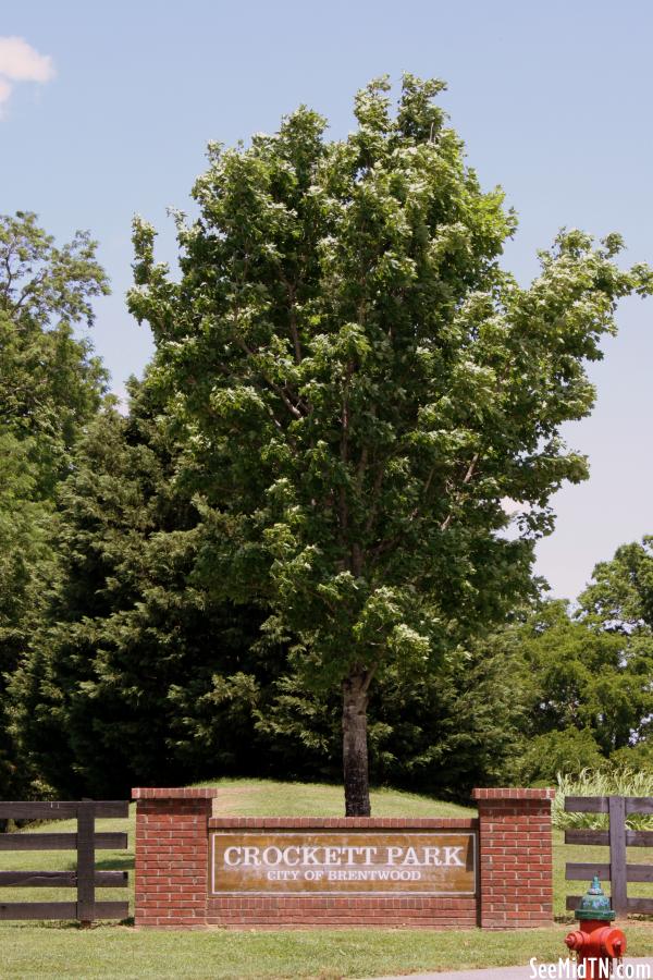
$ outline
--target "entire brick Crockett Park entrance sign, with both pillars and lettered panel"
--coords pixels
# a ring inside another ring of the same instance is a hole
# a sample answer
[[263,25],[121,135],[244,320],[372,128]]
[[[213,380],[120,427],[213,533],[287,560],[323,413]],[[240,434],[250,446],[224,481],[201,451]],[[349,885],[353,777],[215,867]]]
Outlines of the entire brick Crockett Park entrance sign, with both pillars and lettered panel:
[[539,926],[550,789],[477,789],[478,819],[213,818],[218,788],[134,789],[136,924]]

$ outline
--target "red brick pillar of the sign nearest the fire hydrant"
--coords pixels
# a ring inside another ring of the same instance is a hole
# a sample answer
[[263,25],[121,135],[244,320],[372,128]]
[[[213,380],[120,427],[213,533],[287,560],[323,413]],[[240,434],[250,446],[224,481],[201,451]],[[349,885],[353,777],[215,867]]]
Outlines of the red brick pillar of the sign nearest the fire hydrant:
[[475,789],[472,796],[479,808],[480,924],[550,926],[555,789]]

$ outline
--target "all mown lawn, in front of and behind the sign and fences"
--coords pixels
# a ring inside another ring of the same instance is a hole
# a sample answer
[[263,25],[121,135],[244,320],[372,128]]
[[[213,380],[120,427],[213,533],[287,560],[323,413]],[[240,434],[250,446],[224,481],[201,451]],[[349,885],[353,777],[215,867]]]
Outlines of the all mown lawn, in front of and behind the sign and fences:
[[[224,780],[215,800],[218,816],[262,817],[283,814],[341,816],[342,789],[326,785]],[[133,810],[133,808],[132,808]],[[394,791],[372,795],[379,817],[469,816],[475,809]],[[44,830],[37,828],[34,832]],[[74,821],[57,821],[48,830],[74,831]],[[128,820],[99,820],[98,830],[127,830],[130,852],[98,852],[102,869],[131,869],[134,863],[134,813]],[[26,831],[29,833],[30,831]],[[629,860],[643,862],[649,852],[633,848]],[[368,978],[384,973],[508,966],[556,960],[566,952],[565,895],[584,891],[582,882],[565,882],[565,861],[603,861],[607,848],[565,847],[563,834],[554,835],[555,915],[553,929],[528,932],[459,930],[415,932],[403,930],[296,930],[207,932],[139,932],[130,926],[102,923],[81,930],[71,923],[0,923],[0,978]],[[75,867],[69,852],[4,852],[2,869],[66,870]],[[132,882],[133,885],[133,882]],[[630,885],[629,894],[646,894],[646,885]],[[650,892],[649,892],[650,893]],[[120,899],[118,889],[98,890],[98,897]],[[3,902],[28,899],[74,901],[63,889],[2,889]],[[653,956],[653,928],[648,922],[628,927],[629,954]]]

